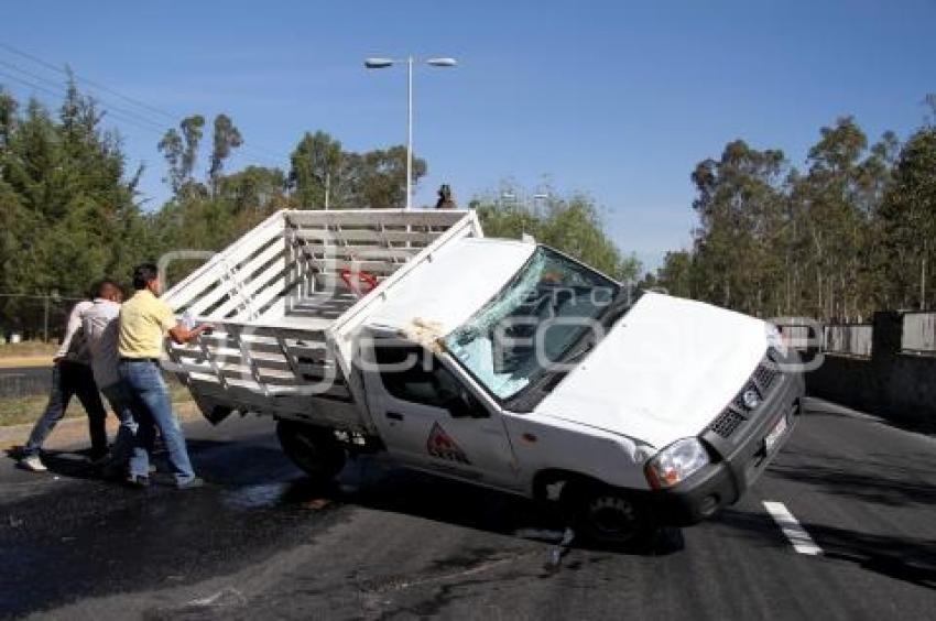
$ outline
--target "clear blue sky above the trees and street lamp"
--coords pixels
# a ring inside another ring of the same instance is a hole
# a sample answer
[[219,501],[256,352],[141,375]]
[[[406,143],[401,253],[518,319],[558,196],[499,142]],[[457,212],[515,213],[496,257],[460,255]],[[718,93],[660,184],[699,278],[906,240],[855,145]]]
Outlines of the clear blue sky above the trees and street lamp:
[[[248,163],[286,166],[306,130],[347,149],[405,141],[405,72],[366,56],[454,56],[415,76],[416,204],[442,183],[464,205],[501,181],[548,179],[602,207],[647,266],[687,247],[689,173],[726,142],[780,148],[801,165],[818,130],[853,115],[873,139],[905,137],[936,91],[936,2],[48,2],[8,3],[0,43],[182,118],[231,116]],[[2,64],[7,63],[7,64]],[[50,94],[10,67],[62,76],[0,48],[0,84]],[[91,89],[92,91],[95,89]],[[167,196],[155,144],[172,121],[112,116],[142,188]],[[207,141],[206,141],[207,142]],[[207,167],[203,157],[200,167]]]

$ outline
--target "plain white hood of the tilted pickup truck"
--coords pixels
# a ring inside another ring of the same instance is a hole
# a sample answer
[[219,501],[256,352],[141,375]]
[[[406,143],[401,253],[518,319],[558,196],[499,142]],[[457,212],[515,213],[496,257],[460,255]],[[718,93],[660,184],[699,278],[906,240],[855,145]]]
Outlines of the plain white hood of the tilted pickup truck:
[[764,322],[645,293],[535,412],[657,448],[699,434],[766,352]]

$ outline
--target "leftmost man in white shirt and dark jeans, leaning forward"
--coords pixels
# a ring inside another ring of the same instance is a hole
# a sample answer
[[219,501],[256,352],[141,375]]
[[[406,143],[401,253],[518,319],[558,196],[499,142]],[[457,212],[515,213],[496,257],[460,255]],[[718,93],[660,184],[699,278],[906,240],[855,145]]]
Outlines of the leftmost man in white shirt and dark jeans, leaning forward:
[[65,410],[72,396],[78,401],[88,414],[88,432],[91,436],[91,461],[98,461],[107,456],[107,411],[100,401],[95,378],[89,367],[90,352],[81,328],[81,317],[94,304],[81,301],[72,308],[65,328],[62,347],[53,358],[52,390],[48,404],[39,421],[33,426],[30,439],[23,447],[20,466],[26,470],[42,472],[46,470],[40,459],[42,445],[58,421],[65,416]]

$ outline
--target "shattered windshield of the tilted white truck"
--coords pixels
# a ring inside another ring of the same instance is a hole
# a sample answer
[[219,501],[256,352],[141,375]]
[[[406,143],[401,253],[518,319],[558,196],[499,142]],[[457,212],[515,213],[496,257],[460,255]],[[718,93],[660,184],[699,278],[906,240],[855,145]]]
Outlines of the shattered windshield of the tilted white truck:
[[510,399],[564,369],[584,339],[600,338],[599,318],[619,290],[610,279],[541,246],[444,344],[492,394]]

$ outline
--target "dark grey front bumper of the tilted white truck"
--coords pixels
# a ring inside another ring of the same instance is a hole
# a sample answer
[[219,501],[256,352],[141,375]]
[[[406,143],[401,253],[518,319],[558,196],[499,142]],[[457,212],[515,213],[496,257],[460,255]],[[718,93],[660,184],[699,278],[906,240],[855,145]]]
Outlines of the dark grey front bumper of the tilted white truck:
[[[661,523],[695,524],[737,502],[790,438],[805,393],[802,373],[783,373],[751,417],[729,439],[711,428],[700,435],[712,462],[674,488],[655,490]],[[765,438],[786,418],[786,431],[768,449]],[[730,442],[729,442],[730,440]]]

